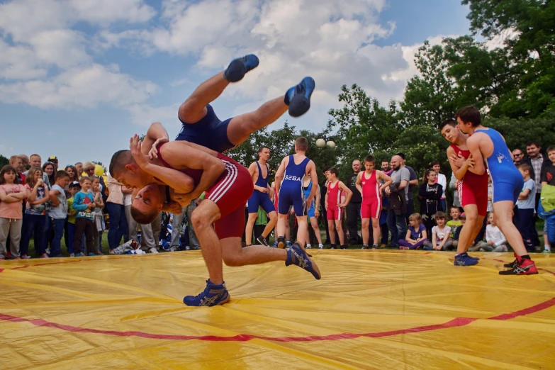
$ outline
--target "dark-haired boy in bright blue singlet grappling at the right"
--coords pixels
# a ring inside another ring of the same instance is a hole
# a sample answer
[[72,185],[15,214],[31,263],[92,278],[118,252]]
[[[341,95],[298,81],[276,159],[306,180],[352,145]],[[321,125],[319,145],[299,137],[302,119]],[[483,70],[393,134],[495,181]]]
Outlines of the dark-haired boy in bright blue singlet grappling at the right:
[[524,180],[512,162],[512,154],[505,144],[505,139],[493,128],[482,125],[480,111],[475,106],[461,108],[456,112],[455,117],[460,130],[471,135],[466,140],[466,145],[474,159],[474,166],[469,167],[468,171],[478,175],[483,174],[486,172],[484,166],[486,161],[493,185],[493,212],[498,227],[515,250],[515,262],[505,264],[505,267],[511,269],[499,271],[499,274],[537,274],[538,270],[527,254],[522,235],[512,223],[512,209],[518,200]]

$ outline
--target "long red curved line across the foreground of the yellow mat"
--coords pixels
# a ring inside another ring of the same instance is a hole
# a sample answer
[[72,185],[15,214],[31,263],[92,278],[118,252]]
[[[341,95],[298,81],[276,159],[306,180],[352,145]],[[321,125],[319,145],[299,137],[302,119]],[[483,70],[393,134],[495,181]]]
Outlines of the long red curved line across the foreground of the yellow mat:
[[[517,318],[519,316],[529,315],[530,313],[535,313],[540,310],[545,310],[555,305],[555,298],[551,298],[549,301],[533,305],[532,307],[525,308],[523,310],[515,311],[513,313],[505,313],[503,315],[494,316],[492,318],[487,318],[486,320],[509,320],[512,318]],[[332,335],[311,335],[306,337],[263,337],[260,335],[248,335],[240,334],[233,337],[221,337],[218,335],[168,335],[168,334],[153,334],[148,332],[117,332],[114,330],[100,330],[100,329],[89,329],[86,327],[76,327],[72,325],[63,325],[57,323],[50,323],[43,319],[26,319],[18,318],[16,316],[6,315],[0,313],[0,320],[9,321],[11,323],[30,323],[35,326],[40,327],[52,327],[55,329],[65,330],[67,332],[83,332],[83,333],[94,333],[103,335],[115,335],[118,337],[142,337],[147,339],[157,339],[157,340],[205,340],[209,342],[247,342],[253,339],[268,340],[271,342],[315,342],[321,340],[344,340],[344,339],[356,339],[359,337],[391,337],[393,335],[400,334],[410,334],[413,332],[427,332],[431,330],[446,329],[449,327],[459,327],[464,325],[469,325],[476,320],[476,318],[454,318],[443,324],[435,325],[425,325],[410,327],[408,329],[391,330],[387,332],[367,332],[367,333],[341,333]]]

